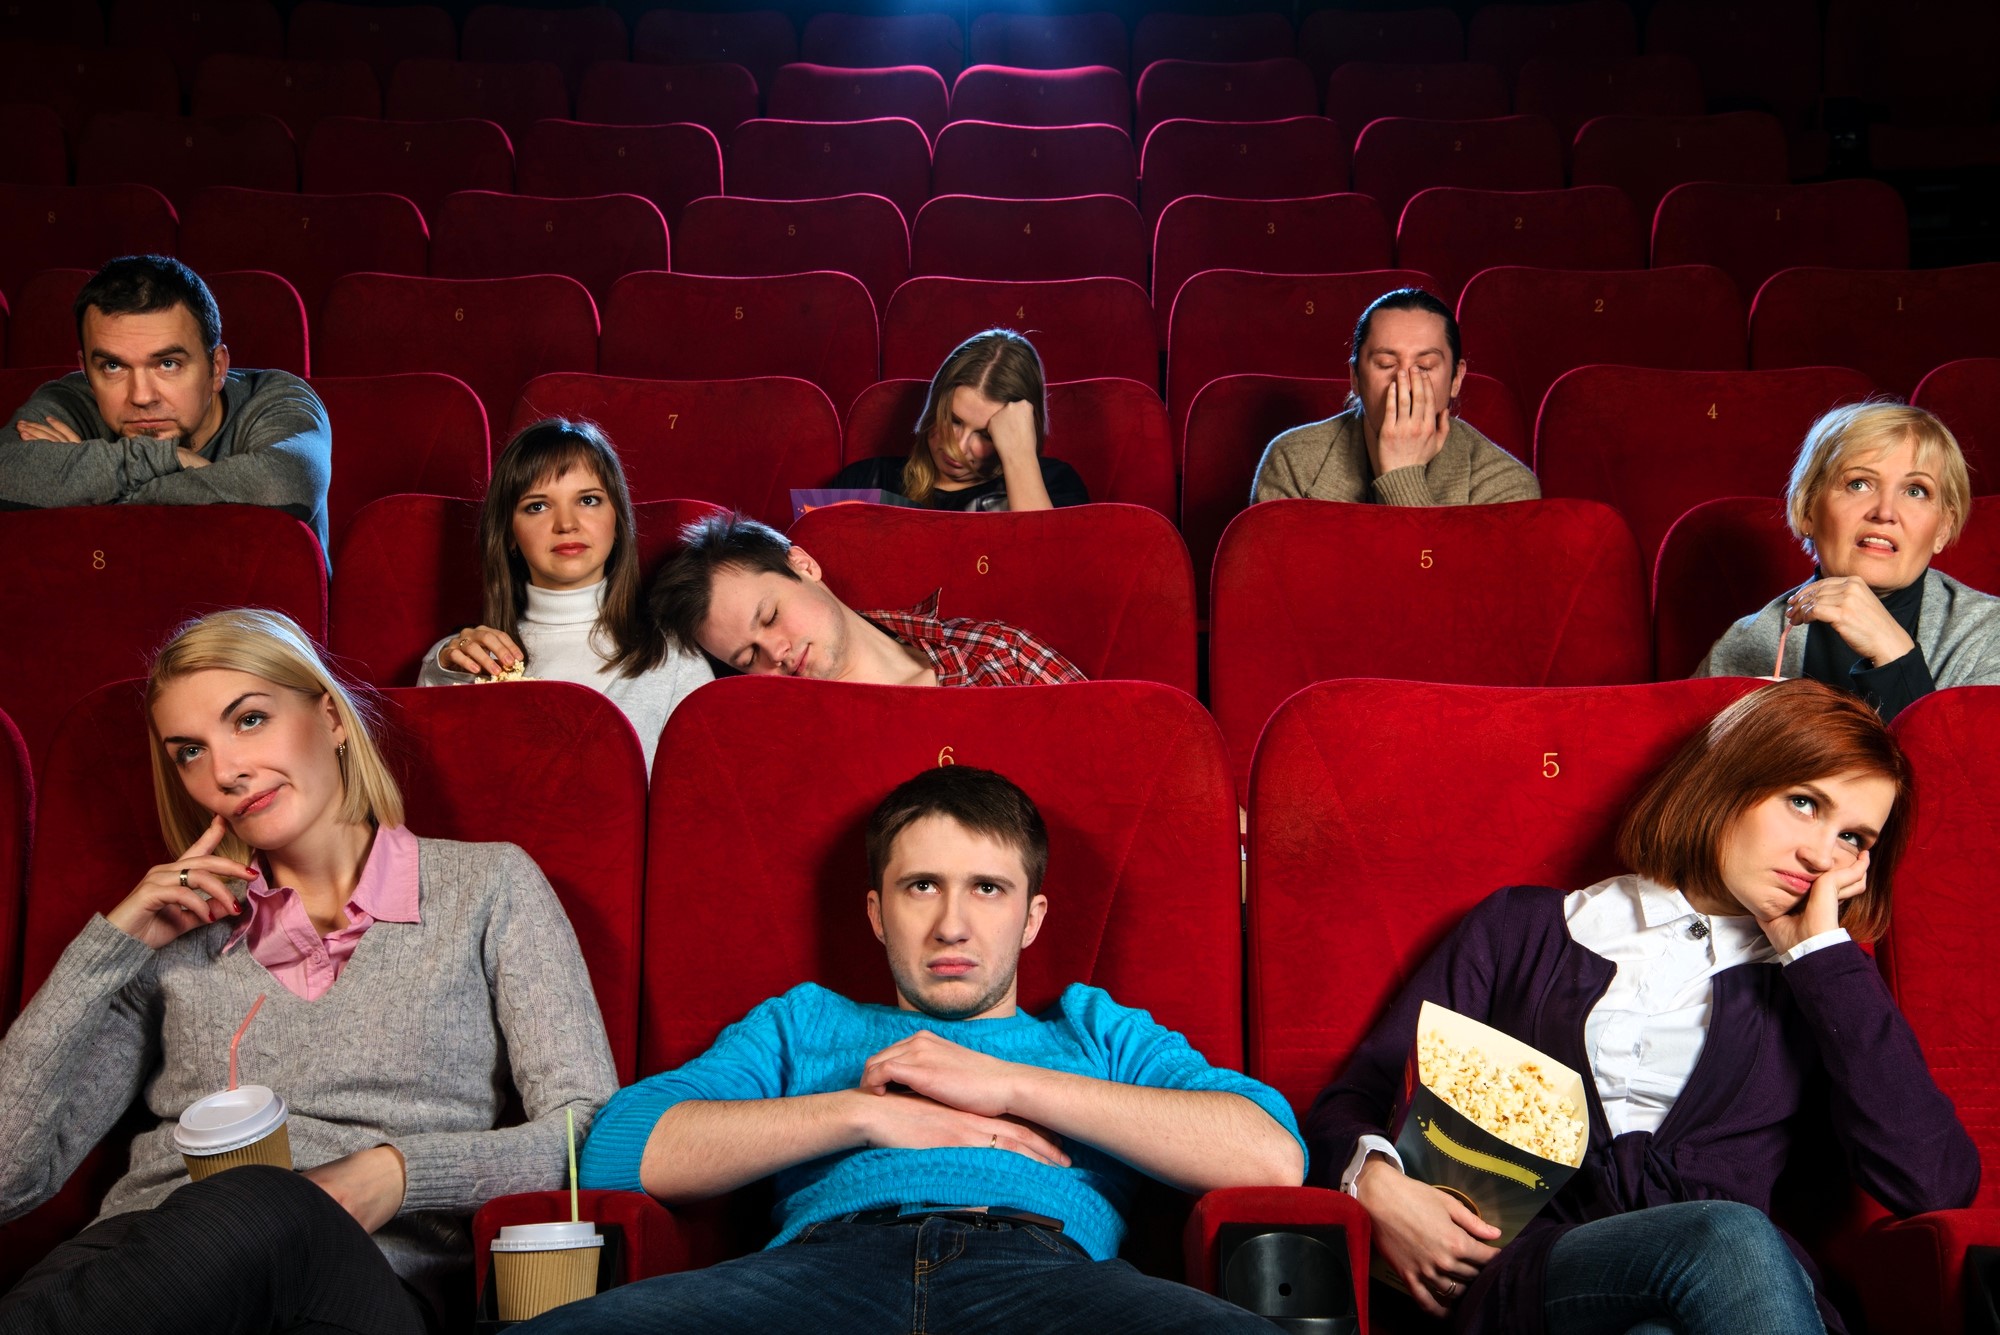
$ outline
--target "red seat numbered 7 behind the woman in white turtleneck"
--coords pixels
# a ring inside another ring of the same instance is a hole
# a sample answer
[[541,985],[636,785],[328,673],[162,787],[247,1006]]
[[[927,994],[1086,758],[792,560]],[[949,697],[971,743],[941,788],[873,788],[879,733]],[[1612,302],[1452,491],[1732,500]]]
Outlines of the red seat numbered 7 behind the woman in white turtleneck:
[[816,384],[620,380],[562,372],[528,382],[510,432],[540,418],[584,418],[618,446],[634,502],[690,498],[784,528],[792,488],[840,472],[840,418]]

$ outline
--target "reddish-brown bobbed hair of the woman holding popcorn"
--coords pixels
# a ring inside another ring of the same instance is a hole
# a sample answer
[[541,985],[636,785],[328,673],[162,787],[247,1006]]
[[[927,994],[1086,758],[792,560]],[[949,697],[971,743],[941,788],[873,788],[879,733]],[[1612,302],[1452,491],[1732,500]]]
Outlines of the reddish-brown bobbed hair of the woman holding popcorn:
[[1618,857],[1662,885],[1728,899],[1722,843],[1736,821],[1774,793],[1846,773],[1896,785],[1868,853],[1868,889],[1840,905],[1840,925],[1874,941],[1888,929],[1890,885],[1916,817],[1910,761],[1874,709],[1810,677],[1762,685],[1696,731],[1632,805]]

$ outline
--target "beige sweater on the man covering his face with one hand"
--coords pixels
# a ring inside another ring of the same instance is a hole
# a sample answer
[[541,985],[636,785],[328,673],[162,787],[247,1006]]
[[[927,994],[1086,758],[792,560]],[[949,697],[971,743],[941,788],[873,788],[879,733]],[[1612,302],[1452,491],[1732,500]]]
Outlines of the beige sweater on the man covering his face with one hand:
[[1380,478],[1368,462],[1360,408],[1326,422],[1294,426],[1264,450],[1250,504],[1266,500],[1338,500],[1378,506],[1492,506],[1542,500],[1542,484],[1512,454],[1452,418],[1444,448],[1422,468],[1392,468]]

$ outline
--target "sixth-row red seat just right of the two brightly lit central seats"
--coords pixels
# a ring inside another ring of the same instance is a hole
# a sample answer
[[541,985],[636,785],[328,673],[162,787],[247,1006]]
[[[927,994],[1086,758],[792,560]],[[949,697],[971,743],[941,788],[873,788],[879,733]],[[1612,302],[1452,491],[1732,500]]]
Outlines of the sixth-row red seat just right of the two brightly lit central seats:
[[1324,116],[1290,120],[1168,120],[1146,136],[1140,154],[1140,212],[1184,194],[1236,200],[1290,200],[1348,188],[1348,140]]

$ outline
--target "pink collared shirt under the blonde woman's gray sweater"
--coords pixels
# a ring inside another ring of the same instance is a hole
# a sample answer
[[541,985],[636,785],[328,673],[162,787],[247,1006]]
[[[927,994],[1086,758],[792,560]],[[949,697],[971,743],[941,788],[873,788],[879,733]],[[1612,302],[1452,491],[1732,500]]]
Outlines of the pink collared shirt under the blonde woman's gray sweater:
[[320,935],[304,901],[290,885],[270,885],[262,869],[244,885],[244,919],[222,943],[228,953],[250,941],[250,957],[306,1001],[318,1001],[340,977],[362,933],[378,921],[414,923],[416,915],[416,835],[402,825],[376,829],[362,879],[348,899],[348,925]]

